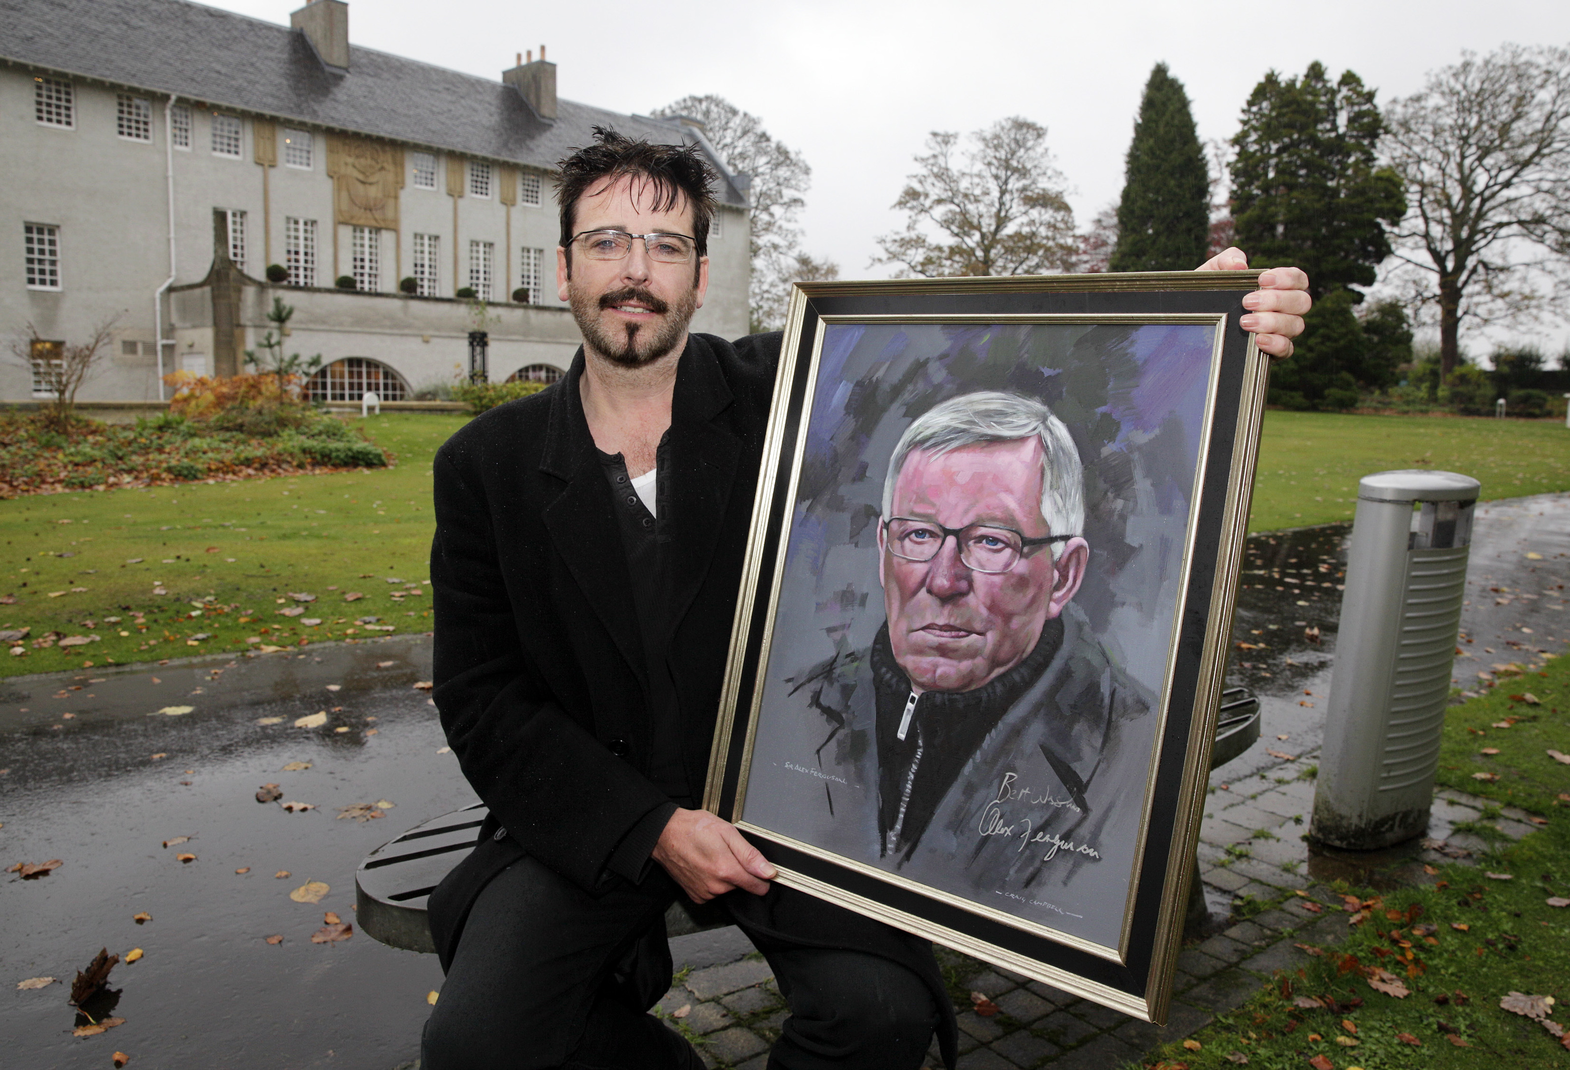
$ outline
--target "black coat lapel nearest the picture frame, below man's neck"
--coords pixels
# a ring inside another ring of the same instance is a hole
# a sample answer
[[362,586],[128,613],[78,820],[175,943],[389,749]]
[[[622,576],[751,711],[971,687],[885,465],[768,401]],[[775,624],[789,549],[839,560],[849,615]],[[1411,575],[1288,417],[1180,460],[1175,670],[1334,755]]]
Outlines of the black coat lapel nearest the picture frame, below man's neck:
[[732,403],[719,361],[708,344],[691,336],[677,367],[670,433],[666,439],[669,491],[659,502],[659,540],[669,584],[670,628],[686,617],[708,576],[714,548],[725,532],[725,507],[741,458],[741,442],[713,420]]

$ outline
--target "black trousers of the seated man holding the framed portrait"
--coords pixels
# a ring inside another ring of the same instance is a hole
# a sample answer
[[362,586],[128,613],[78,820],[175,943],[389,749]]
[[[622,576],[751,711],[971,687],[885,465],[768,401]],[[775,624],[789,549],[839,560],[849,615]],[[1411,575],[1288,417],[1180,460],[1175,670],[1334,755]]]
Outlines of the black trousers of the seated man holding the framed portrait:
[[[680,1034],[647,1014],[670,985],[664,913],[680,894],[659,866],[642,885],[619,882],[600,897],[532,858],[509,866],[471,908],[425,1023],[422,1070],[702,1067]],[[769,1070],[922,1065],[937,1009],[911,970],[747,935],[791,1010]]]

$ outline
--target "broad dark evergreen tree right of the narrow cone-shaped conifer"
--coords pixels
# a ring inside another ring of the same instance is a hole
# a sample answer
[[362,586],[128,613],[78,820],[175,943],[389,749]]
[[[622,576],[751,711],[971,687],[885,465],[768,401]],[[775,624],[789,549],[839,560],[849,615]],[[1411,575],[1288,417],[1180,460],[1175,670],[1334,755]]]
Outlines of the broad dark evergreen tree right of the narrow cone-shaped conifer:
[[1303,268],[1316,300],[1374,284],[1407,210],[1400,177],[1378,165],[1383,132],[1374,89],[1352,71],[1331,82],[1311,63],[1302,78],[1272,71],[1254,86],[1231,165],[1236,238],[1254,267]]

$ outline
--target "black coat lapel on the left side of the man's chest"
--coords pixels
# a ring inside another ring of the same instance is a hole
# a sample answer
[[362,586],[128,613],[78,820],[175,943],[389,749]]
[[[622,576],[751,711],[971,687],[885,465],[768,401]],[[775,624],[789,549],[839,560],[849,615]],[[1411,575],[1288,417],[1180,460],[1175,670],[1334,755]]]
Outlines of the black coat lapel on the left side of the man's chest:
[[[589,435],[578,380],[584,356],[578,350],[571,370],[556,389],[540,471],[565,480],[562,493],[545,507],[545,527],[556,552],[567,562],[584,599],[611,632],[615,648],[639,679],[647,679],[647,661],[633,606],[626,551],[617,527],[615,504],[604,469]],[[565,602],[564,602],[565,604]]]

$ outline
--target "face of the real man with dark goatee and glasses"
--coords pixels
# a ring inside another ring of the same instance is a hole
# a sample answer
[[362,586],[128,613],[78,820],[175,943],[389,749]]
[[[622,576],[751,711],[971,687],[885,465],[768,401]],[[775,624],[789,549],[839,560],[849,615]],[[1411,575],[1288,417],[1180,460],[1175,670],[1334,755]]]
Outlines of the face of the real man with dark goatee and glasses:
[[[692,234],[686,198],[667,212],[653,210],[656,201],[655,187],[637,177],[603,182],[578,199],[573,229]],[[692,262],[650,260],[642,240],[622,260],[590,260],[575,248],[568,278],[567,253],[557,248],[556,289],[571,304],[590,350],[614,364],[642,367],[686,344],[688,323],[708,289],[708,257],[699,257],[694,270]]]

